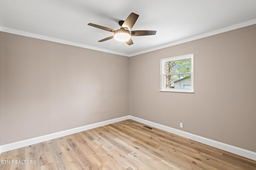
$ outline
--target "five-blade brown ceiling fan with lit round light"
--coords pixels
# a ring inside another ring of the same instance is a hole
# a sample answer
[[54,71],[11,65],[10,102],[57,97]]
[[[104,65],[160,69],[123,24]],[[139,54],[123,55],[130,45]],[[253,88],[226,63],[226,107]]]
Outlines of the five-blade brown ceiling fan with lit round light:
[[114,35],[104,38],[98,42],[103,42],[109,39],[116,39],[118,41],[123,41],[128,45],[132,45],[132,39],[131,36],[144,36],[144,35],[155,35],[156,31],[150,31],[150,30],[137,30],[137,31],[131,31],[133,25],[135,24],[135,22],[137,21],[139,15],[138,14],[134,14],[133,12],[126,18],[125,21],[119,21],[118,24],[121,26],[120,29],[111,29],[108,27],[103,27],[100,25],[96,25],[94,23],[88,23],[88,25],[92,26],[92,27],[96,27],[99,29],[103,29],[106,31],[110,31],[113,32]]

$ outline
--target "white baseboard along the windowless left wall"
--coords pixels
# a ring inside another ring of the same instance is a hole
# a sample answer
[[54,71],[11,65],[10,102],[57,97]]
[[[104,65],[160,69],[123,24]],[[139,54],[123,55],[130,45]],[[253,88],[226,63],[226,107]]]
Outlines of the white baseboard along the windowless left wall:
[[60,132],[52,133],[52,134],[49,134],[49,135],[35,137],[35,138],[32,138],[32,139],[26,139],[24,141],[9,143],[9,144],[0,146],[0,154],[1,154],[1,152],[6,152],[6,151],[9,151],[9,150],[22,148],[22,147],[26,147],[26,146],[29,146],[29,145],[34,145],[36,143],[49,141],[49,140],[56,139],[56,138],[59,138],[59,137],[64,137],[64,136],[71,135],[71,134],[74,134],[74,133],[78,133],[78,132],[86,131],[86,130],[89,130],[89,129],[93,129],[93,128],[96,128],[96,127],[108,125],[108,124],[111,124],[111,123],[116,123],[118,121],[123,121],[123,120],[126,120],[126,119],[129,119],[129,116],[119,117],[119,118],[116,118],[116,119],[110,119],[110,120],[107,120],[107,121],[102,121],[102,122],[93,123],[93,124],[90,124],[90,125],[76,127],[74,129],[68,129],[66,131],[60,131]]

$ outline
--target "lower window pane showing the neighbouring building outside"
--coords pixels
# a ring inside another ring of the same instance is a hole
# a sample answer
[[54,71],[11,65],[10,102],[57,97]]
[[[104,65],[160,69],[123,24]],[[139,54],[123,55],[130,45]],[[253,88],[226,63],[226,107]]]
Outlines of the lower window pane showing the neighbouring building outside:
[[164,76],[165,88],[191,89],[191,74],[177,74]]

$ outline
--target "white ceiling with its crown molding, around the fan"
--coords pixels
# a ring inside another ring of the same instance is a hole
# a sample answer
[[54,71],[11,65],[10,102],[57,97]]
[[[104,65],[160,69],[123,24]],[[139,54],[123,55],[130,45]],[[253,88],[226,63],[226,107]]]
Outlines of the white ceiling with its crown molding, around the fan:
[[[110,39],[119,20],[139,15],[133,45]],[[256,24],[256,0],[0,0],[0,31],[124,56],[134,56]]]

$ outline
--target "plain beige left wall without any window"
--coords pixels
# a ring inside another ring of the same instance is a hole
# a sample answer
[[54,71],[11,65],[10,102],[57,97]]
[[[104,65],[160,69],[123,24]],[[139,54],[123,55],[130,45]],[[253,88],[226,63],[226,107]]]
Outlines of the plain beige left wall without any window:
[[0,145],[129,115],[128,59],[0,32]]

